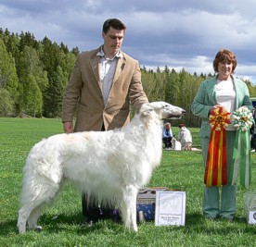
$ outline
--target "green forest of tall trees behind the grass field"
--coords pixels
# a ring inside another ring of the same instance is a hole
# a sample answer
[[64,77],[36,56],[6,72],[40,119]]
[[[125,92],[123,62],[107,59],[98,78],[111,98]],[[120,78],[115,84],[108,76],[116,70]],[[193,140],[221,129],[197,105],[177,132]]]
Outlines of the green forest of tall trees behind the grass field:
[[[0,29],[0,117],[61,117],[63,93],[79,53],[78,47],[69,50],[47,37],[36,41],[29,31],[18,34]],[[200,83],[214,75],[190,74],[185,68],[175,71],[168,65],[156,71],[144,67],[141,73],[149,102],[178,105],[186,109],[186,126],[199,126],[190,105]],[[244,81],[250,97],[255,97],[256,87]]]

